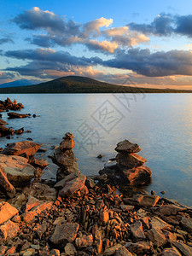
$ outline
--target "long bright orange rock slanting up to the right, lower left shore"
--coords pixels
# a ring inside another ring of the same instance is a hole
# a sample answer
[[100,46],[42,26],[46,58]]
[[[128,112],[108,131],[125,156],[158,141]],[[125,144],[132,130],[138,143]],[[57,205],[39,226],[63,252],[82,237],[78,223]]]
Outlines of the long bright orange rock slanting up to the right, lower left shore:
[[38,216],[38,214],[45,210],[49,210],[52,207],[52,205],[53,202],[50,201],[41,202],[37,207],[32,208],[30,212],[26,212],[23,214],[23,221],[26,224],[31,224],[34,218]]

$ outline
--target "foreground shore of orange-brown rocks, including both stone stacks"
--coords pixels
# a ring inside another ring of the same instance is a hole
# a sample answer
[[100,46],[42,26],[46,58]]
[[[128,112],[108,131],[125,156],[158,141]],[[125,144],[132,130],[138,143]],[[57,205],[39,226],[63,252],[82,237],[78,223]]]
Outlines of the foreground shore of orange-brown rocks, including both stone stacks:
[[56,182],[47,183],[41,146],[1,150],[0,255],[192,255],[192,209],[134,189],[152,174],[136,143],[118,143],[112,164],[86,177],[67,132],[51,156]]

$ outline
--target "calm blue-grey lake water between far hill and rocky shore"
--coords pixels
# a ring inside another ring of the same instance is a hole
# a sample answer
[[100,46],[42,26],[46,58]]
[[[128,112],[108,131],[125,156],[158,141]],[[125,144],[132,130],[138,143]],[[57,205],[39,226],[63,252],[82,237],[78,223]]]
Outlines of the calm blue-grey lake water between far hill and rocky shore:
[[[158,195],[166,190],[166,197],[192,206],[192,95],[191,94],[54,94],[9,95],[22,102],[20,113],[36,113],[35,119],[3,119],[14,129],[24,127],[24,133],[6,143],[32,137],[43,143],[52,154],[52,145],[59,145],[67,131],[76,140],[75,156],[79,170],[85,175],[97,174],[104,160],[113,157],[116,143],[125,138],[138,143],[139,153],[151,168],[152,183],[146,188]],[[0,96],[6,99],[5,95]],[[103,154],[102,160],[96,155]],[[53,167],[53,166],[52,166]],[[48,171],[49,172],[49,171]],[[49,174],[49,173],[47,173]]]

